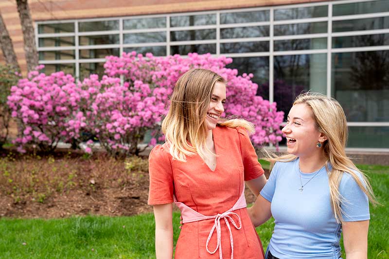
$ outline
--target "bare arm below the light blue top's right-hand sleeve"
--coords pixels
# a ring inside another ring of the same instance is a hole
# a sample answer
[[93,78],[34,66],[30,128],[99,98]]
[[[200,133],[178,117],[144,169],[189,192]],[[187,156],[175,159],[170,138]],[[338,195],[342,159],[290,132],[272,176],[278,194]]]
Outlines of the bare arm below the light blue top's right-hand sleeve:
[[343,244],[347,259],[368,258],[369,220],[342,222]]

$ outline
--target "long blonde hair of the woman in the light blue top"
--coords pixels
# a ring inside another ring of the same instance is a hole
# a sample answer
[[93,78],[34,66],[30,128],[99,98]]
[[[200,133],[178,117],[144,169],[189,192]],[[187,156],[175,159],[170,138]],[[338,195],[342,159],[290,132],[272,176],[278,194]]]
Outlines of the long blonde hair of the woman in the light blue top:
[[[328,181],[330,186],[331,205],[337,222],[342,222],[342,197],[339,193],[339,184],[343,173],[349,173],[368,196],[369,200],[376,204],[371,185],[364,173],[362,173],[349,157],[346,156],[345,147],[347,143],[347,121],[342,106],[333,98],[328,98],[319,93],[308,92],[299,95],[293,105],[305,104],[311,108],[316,122],[316,128],[323,133],[327,140],[323,142],[322,148],[327,161],[331,164],[331,170],[327,167]],[[296,155],[270,155],[267,160],[272,163],[276,161],[292,161]],[[359,172],[362,175],[358,177]],[[347,202],[347,201],[343,201]]]

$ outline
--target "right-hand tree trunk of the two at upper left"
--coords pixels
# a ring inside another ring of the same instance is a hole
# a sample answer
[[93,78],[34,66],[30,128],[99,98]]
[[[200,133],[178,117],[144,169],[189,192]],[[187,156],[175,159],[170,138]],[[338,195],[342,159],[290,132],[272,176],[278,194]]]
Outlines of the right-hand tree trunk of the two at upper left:
[[38,53],[35,45],[35,33],[33,20],[27,0],[16,0],[20,17],[21,29],[23,31],[24,52],[26,54],[27,70],[30,72],[38,66]]

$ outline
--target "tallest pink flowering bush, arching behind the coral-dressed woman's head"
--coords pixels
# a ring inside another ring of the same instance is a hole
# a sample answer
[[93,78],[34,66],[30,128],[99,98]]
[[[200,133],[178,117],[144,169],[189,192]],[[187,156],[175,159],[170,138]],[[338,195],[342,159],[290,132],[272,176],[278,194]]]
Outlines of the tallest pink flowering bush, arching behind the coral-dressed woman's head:
[[[124,53],[122,57],[106,58],[104,67],[108,75],[122,75],[129,86],[133,86],[136,81],[141,81],[148,85],[153,90],[153,96],[159,98],[164,104],[169,103],[168,96],[173,92],[179,76],[192,68],[210,69],[227,81],[225,116],[238,116],[255,124],[256,133],[251,136],[255,146],[260,147],[267,143],[277,145],[282,139],[280,124],[283,121],[283,112],[277,112],[276,103],[270,104],[261,96],[256,96],[258,85],[251,81],[252,74],[238,76],[236,69],[225,68],[232,62],[231,58],[197,53],[189,53],[188,58],[180,55],[154,57],[150,53],[144,57],[135,52]],[[165,115],[166,112],[167,105],[159,110],[161,115]],[[152,135],[158,136],[157,126]],[[152,145],[157,142],[155,138],[151,141]]]

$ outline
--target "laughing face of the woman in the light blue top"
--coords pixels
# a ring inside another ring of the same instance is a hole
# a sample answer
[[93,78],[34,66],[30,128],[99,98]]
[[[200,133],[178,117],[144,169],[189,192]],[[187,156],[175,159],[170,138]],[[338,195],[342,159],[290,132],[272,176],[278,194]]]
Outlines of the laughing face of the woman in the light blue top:
[[288,121],[283,127],[286,135],[287,152],[292,155],[310,156],[321,149],[316,147],[319,140],[324,141],[316,127],[313,112],[306,104],[295,104],[289,111]]

